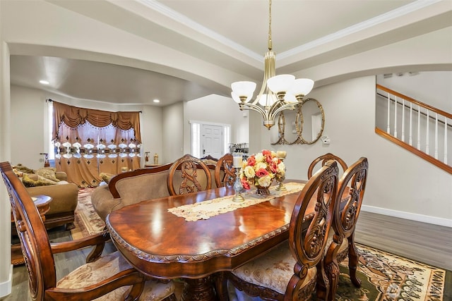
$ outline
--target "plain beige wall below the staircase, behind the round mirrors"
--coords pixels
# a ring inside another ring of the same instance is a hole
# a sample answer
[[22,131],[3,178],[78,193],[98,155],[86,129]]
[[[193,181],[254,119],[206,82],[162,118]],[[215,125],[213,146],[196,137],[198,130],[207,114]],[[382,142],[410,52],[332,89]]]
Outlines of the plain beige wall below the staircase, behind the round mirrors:
[[452,175],[374,133],[375,81],[374,76],[356,78],[309,94],[323,106],[330,145],[273,146],[268,139],[261,147],[287,151],[288,178],[307,178],[311,161],[327,152],[349,164],[366,156],[364,211],[452,226]]

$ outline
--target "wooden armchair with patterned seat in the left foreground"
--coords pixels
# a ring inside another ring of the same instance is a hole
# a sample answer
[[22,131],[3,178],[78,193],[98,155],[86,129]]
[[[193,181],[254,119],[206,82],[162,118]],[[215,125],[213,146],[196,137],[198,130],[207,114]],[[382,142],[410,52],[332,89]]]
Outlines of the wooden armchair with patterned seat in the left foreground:
[[[0,163],[22,248],[32,300],[174,301],[174,283],[150,280],[133,269],[119,251],[101,256],[109,234],[50,243],[46,228],[11,164]],[[93,246],[86,264],[57,281],[54,254]]]

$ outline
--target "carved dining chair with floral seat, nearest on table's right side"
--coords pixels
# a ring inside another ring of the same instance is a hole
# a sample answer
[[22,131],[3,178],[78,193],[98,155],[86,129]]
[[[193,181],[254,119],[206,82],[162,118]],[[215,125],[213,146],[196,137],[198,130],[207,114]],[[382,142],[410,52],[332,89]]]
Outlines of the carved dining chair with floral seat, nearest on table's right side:
[[[300,192],[289,225],[289,240],[270,252],[226,272],[235,293],[263,300],[311,300],[316,285],[328,291],[322,259],[333,222],[338,166],[326,162]],[[309,217],[307,213],[310,214]],[[223,281],[225,282],[225,281]],[[225,285],[221,290],[226,290]]]

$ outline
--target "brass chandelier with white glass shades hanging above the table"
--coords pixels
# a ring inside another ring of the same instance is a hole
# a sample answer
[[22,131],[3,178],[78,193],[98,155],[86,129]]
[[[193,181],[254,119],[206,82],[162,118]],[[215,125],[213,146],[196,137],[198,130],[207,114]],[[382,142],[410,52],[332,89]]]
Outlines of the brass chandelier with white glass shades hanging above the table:
[[258,111],[263,125],[270,130],[275,125],[275,117],[284,110],[293,110],[303,103],[303,98],[314,87],[314,80],[295,79],[294,75],[276,75],[276,54],[271,41],[271,0],[268,5],[268,51],[264,56],[264,73],[261,91],[250,102],[256,90],[256,82],[233,82],[231,96],[239,104],[240,110]]

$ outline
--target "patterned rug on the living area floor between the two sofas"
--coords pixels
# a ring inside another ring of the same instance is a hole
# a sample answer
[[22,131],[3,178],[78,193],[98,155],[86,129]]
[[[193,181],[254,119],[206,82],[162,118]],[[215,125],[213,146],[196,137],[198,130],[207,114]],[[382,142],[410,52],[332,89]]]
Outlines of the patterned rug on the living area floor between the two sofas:
[[100,219],[91,204],[91,193],[95,188],[78,190],[78,204],[75,212],[74,225],[71,230],[72,239],[84,238],[99,233],[105,228],[105,222]]

